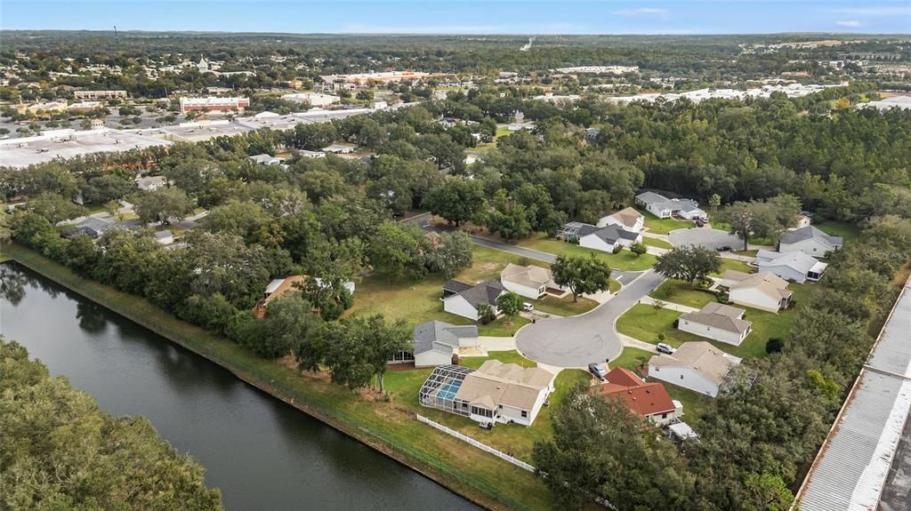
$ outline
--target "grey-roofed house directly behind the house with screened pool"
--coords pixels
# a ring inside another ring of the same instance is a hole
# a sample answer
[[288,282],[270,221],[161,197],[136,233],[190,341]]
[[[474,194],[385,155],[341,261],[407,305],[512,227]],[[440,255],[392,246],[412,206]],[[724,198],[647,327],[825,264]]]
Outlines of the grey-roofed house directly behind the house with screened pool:
[[443,321],[428,321],[412,329],[410,351],[404,351],[391,363],[414,361],[415,367],[435,367],[453,363],[460,347],[477,346],[477,326],[455,326]]

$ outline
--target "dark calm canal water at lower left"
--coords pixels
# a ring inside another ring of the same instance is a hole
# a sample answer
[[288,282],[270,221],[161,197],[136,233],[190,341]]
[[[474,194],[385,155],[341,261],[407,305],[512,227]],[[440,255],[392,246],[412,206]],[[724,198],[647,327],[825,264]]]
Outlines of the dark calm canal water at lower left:
[[0,333],[115,415],[148,417],[235,510],[475,509],[225,369],[21,266],[0,265]]

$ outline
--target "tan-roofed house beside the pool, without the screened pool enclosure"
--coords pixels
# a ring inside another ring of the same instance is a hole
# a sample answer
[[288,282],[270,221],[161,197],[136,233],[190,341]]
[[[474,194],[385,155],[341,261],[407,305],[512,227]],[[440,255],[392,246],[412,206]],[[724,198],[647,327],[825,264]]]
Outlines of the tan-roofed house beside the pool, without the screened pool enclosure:
[[455,393],[455,402],[467,405],[468,416],[480,423],[531,426],[554,391],[554,378],[540,367],[487,360],[466,376]]

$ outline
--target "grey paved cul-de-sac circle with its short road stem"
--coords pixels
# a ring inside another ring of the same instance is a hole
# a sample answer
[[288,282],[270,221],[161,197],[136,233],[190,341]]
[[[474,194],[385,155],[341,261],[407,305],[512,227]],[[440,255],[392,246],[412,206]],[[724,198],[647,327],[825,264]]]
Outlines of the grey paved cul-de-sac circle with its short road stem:
[[664,277],[652,270],[642,272],[639,278],[625,283],[617,296],[589,313],[524,326],[517,332],[516,346],[523,355],[548,366],[584,367],[613,360],[623,351],[614,328],[617,318],[663,281]]

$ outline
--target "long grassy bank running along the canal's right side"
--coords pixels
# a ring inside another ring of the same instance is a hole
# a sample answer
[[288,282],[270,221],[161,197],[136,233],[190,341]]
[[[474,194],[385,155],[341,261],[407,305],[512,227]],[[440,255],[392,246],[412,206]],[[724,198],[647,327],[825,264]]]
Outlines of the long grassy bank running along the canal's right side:
[[481,506],[549,508],[547,490],[537,476],[417,422],[411,406],[399,399],[374,401],[330,384],[325,376],[302,375],[274,361],[258,358],[227,339],[180,321],[138,296],[77,276],[66,266],[25,247],[6,246],[5,254],[229,369],[252,386],[394,457]]

